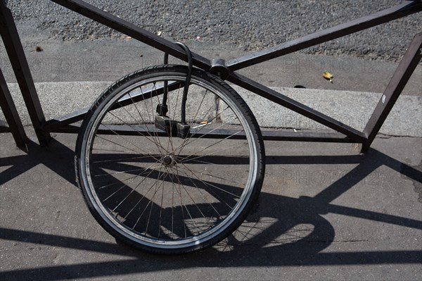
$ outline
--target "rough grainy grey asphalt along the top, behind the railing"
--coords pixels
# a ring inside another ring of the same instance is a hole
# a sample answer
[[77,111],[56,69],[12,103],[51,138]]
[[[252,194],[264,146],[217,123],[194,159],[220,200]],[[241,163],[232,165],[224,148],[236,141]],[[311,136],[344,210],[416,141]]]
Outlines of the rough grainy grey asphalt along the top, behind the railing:
[[[231,44],[253,51],[274,46],[402,3],[398,0],[343,1],[113,1],[87,0],[163,37]],[[49,0],[10,0],[18,26],[37,26],[46,38],[90,40],[122,37]],[[397,61],[422,30],[421,14],[305,49],[307,54],[352,55]]]

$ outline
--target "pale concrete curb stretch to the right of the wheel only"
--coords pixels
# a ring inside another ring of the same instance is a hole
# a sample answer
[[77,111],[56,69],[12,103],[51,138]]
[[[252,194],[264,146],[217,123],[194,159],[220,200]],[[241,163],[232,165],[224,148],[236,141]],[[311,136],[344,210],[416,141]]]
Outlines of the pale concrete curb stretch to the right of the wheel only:
[[[294,128],[296,130],[331,130],[314,120],[305,118],[267,99],[234,87],[248,103],[263,127]],[[381,93],[333,91],[326,89],[272,88],[281,94],[300,101],[321,113],[362,131],[373,109],[381,99]],[[400,96],[385,120],[380,132],[385,135],[422,137],[421,96]]]

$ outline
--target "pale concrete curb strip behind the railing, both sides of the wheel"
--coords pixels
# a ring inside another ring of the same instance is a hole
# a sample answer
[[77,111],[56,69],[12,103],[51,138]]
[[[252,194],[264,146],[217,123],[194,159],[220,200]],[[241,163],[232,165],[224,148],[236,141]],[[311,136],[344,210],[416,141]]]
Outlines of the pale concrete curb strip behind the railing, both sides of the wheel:
[[[44,115],[49,120],[91,106],[99,94],[107,89],[110,84],[111,82],[39,82],[35,83],[35,87],[39,93]],[[23,124],[30,125],[30,118],[18,85],[9,83],[8,87]],[[291,130],[330,130],[245,89],[236,86],[234,86],[234,89],[248,103],[261,127],[288,128]],[[284,87],[272,89],[361,131],[369,120],[373,108],[381,98],[381,94],[369,92]],[[2,113],[0,118],[4,119]],[[392,112],[385,120],[381,133],[402,137],[422,137],[421,128],[421,96],[400,96],[392,108]]]

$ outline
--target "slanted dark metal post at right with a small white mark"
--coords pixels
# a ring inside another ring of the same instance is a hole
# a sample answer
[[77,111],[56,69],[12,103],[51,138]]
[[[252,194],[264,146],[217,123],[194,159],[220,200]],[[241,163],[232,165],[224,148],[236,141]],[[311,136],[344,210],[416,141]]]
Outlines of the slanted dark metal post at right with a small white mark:
[[380,101],[373,111],[371,118],[369,118],[368,123],[364,129],[364,134],[367,139],[362,144],[362,152],[366,152],[371,146],[373,139],[375,139],[376,134],[378,134],[381,126],[383,125],[385,118],[387,118],[388,113],[390,113],[392,106],[399,98],[399,95],[402,93],[404,86],[414,72],[418,62],[422,58],[422,32],[415,35],[414,39],[409,45],[406,53],[404,53],[402,61],[400,61],[399,66],[395,70],[394,75],[390,82],[388,83],[387,88],[385,88],[383,96],[381,96]]

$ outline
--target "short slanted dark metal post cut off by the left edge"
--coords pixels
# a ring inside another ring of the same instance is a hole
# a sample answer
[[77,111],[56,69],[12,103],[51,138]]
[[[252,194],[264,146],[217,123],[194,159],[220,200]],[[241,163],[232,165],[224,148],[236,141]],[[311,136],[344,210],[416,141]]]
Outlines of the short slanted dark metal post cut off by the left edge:
[[4,117],[8,123],[8,127],[10,132],[13,135],[13,139],[15,139],[16,145],[20,149],[27,150],[26,146],[26,134],[25,130],[23,129],[22,122],[20,121],[18,111],[16,110],[15,104],[13,103],[13,99],[11,96],[11,92],[9,92],[6,80],[4,79],[3,73],[0,69],[0,107],[1,111],[4,113]]

